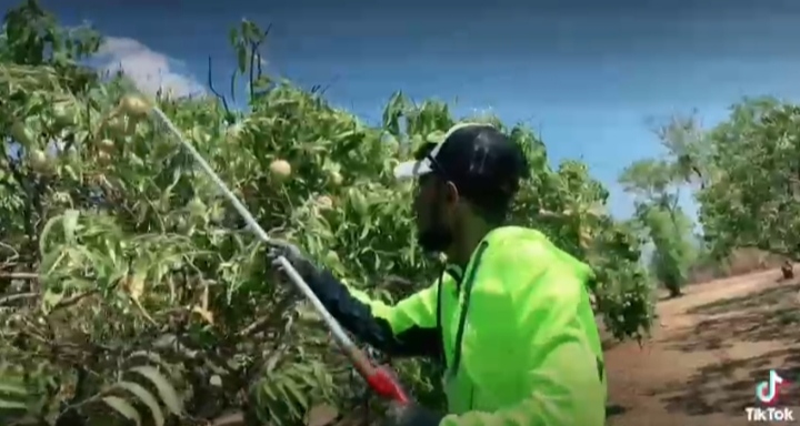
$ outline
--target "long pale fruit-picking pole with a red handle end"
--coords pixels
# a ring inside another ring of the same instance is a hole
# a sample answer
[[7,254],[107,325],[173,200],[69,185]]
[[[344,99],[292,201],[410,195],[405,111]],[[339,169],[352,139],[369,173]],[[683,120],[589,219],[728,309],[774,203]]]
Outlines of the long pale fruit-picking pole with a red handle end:
[[[269,235],[267,235],[267,232],[256,222],[256,219],[250,214],[250,211],[242,204],[239,199],[228,189],[228,185],[222,182],[220,176],[211,169],[208,162],[200,155],[200,153],[194,149],[194,146],[189,143],[186,138],[181,134],[181,131],[178,130],[178,128],[172,123],[172,121],[159,109],[158,106],[152,106],[153,114],[163,123],[167,129],[172,132],[172,134],[180,141],[181,145],[191,153],[191,155],[194,158],[194,160],[200,164],[200,168],[211,178],[211,180],[217,184],[220,191],[222,191],[222,194],[233,204],[233,207],[241,214],[241,216],[244,219],[244,222],[250,226],[250,229],[256,233],[256,235],[263,241],[264,243],[270,242]],[[292,266],[289,261],[280,256],[278,257],[278,262],[283,266],[283,270],[289,275],[289,278],[291,278],[291,282],[294,284],[298,290],[308,298],[309,302],[313,305],[314,310],[320,314],[322,317],[322,321],[328,326],[328,329],[330,329],[331,334],[333,335],[333,338],[336,343],[339,345],[339,347],[344,352],[344,354],[348,356],[352,365],[356,367],[356,369],[359,372],[361,377],[363,377],[367,381],[367,384],[372,388],[374,393],[380,395],[383,398],[396,400],[401,404],[408,404],[410,400],[403,390],[402,386],[398,383],[394,375],[380,366],[372,365],[372,362],[369,359],[369,357],[358,348],[350,339],[350,337],[344,333],[344,329],[341,327],[339,322],[336,321],[336,318],[328,312],[328,310],[324,307],[322,302],[317,297],[317,295],[311,291],[309,285],[306,283],[306,281],[298,274],[297,270]]]

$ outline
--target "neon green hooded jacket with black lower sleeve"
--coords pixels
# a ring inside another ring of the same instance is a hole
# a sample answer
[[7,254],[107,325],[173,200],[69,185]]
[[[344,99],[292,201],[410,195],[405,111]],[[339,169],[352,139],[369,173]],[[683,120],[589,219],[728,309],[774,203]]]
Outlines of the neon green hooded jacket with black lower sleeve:
[[341,284],[338,292],[331,283],[316,291],[344,327],[377,348],[443,356],[452,378],[450,414],[440,426],[604,425],[603,358],[586,264],[538,231],[506,226],[483,239],[462,277],[452,275],[394,306],[346,294]]

